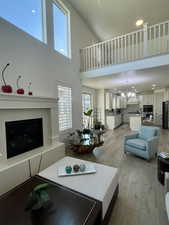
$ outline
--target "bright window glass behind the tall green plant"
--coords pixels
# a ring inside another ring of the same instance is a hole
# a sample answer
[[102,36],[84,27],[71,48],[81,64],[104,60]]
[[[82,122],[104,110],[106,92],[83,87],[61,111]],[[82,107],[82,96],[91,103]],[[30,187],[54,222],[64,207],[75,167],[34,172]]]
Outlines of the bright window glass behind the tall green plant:
[[88,118],[84,115],[84,112],[87,112],[89,109],[92,109],[91,95],[82,94],[82,110],[83,110],[83,126],[87,127]]

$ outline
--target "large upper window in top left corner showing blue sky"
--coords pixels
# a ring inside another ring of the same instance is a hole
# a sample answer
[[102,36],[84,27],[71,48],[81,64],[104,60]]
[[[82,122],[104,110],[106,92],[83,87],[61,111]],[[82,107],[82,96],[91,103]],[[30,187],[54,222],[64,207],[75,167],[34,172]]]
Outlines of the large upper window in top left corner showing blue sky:
[[0,17],[43,41],[42,0],[0,0]]

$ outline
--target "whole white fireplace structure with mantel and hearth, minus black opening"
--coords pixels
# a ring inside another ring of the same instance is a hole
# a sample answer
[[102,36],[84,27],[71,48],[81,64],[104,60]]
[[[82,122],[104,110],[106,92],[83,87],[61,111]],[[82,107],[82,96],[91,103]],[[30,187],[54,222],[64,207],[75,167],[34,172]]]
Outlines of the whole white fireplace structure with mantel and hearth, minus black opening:
[[[0,93],[0,195],[65,155],[59,142],[56,98]],[[44,145],[7,159],[5,122],[43,118]]]

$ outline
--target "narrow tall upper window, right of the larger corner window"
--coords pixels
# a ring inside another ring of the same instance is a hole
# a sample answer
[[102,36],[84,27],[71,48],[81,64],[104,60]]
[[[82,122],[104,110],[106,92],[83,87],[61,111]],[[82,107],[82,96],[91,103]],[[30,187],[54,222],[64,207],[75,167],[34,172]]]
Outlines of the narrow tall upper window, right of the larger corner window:
[[69,12],[58,1],[53,3],[54,48],[69,56]]

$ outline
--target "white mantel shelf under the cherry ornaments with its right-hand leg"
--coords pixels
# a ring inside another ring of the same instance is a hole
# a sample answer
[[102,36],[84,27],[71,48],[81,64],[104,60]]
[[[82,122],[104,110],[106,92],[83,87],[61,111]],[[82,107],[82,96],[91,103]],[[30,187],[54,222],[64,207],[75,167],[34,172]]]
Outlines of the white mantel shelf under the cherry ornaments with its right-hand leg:
[[[48,109],[49,113],[49,127],[51,129],[50,139],[51,145],[57,145],[59,141],[58,134],[58,120],[57,120],[57,102],[58,99],[42,96],[28,96],[17,94],[3,94],[0,93],[0,112],[1,110],[32,110],[32,109]],[[22,114],[22,111],[18,111],[17,114]],[[2,134],[1,134],[2,135]],[[1,143],[2,146],[2,143]],[[5,144],[4,144],[5,146]],[[3,148],[5,149],[5,147]],[[2,157],[2,152],[4,156]],[[0,152],[0,158],[5,157],[6,150]],[[19,158],[19,157],[18,157]]]

